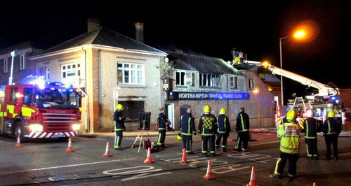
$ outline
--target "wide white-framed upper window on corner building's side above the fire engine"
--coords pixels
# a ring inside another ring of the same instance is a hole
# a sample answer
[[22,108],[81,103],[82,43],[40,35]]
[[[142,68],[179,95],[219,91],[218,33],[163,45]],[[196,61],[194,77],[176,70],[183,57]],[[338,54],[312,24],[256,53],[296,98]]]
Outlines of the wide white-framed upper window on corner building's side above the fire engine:
[[[49,69],[46,67],[46,78],[50,78]],[[61,66],[61,79],[62,83],[66,85],[77,85],[79,84],[79,77],[81,76],[81,65],[76,64],[63,64]]]

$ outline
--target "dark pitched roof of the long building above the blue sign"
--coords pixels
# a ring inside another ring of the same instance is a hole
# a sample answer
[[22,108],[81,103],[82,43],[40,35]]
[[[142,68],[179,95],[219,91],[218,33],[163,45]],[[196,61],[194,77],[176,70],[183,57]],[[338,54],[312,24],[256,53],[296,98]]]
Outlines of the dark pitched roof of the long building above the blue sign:
[[171,62],[173,62],[174,69],[199,71],[200,73],[208,74],[230,73],[236,75],[244,75],[220,58],[189,55],[178,52],[168,52],[168,58]]

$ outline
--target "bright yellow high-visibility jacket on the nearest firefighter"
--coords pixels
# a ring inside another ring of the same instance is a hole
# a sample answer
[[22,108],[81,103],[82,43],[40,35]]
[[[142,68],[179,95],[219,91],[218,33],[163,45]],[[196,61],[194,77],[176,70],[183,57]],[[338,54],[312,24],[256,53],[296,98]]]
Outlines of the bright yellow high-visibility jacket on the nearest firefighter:
[[298,154],[300,152],[300,134],[301,129],[293,121],[279,125],[277,138],[280,138],[280,151],[289,154]]

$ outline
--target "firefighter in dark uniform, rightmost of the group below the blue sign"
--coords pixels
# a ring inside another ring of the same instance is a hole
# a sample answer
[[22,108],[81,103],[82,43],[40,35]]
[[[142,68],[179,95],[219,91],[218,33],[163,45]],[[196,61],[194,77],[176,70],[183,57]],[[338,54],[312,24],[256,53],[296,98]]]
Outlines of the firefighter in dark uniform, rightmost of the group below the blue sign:
[[[249,129],[250,129],[250,121],[249,115],[245,113],[245,108],[240,108],[240,113],[237,115],[237,124],[235,125],[235,130],[238,133],[237,136],[237,146],[233,148],[233,150],[243,150],[243,152],[247,152],[247,147],[250,139]],[[242,143],[242,148],[241,148]]]

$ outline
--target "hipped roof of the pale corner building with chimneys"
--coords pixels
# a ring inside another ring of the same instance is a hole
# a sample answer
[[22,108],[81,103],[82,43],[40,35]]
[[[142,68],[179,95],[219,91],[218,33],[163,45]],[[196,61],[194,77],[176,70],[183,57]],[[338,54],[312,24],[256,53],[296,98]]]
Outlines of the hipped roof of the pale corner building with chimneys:
[[86,34],[72,38],[69,41],[55,45],[54,47],[45,50],[42,54],[89,44],[121,48],[130,51],[151,52],[159,55],[166,55],[166,52],[152,48],[149,45],[135,41],[133,38],[128,38],[127,36],[119,34],[117,31],[113,31],[105,27],[99,27],[98,29],[90,31]]

